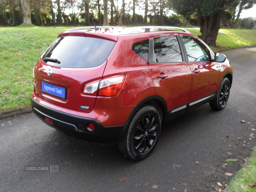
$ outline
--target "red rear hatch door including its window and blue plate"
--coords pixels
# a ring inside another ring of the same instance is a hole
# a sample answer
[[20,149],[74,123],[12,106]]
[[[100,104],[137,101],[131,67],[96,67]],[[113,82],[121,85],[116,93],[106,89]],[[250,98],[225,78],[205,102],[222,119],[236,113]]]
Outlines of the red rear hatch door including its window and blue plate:
[[47,49],[34,69],[36,93],[66,108],[93,110],[96,96],[82,93],[86,84],[102,79],[115,41],[62,36]]

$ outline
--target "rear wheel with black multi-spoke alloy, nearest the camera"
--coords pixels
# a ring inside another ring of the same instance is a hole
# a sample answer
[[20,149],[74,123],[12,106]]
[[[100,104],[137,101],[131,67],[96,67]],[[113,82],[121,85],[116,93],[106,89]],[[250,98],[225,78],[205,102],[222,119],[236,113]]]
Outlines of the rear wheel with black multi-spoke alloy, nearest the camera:
[[153,106],[144,106],[131,119],[118,148],[128,158],[143,160],[157,145],[160,131],[159,112]]

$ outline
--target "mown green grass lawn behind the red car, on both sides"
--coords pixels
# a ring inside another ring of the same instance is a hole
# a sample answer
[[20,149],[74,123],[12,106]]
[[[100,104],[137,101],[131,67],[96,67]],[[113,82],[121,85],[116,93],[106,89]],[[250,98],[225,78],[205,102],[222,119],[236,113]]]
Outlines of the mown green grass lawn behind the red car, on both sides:
[[[72,27],[20,25],[0,27],[0,111],[30,105],[32,70],[59,32]],[[199,30],[189,30],[200,35]],[[217,45],[221,48],[256,46],[256,30],[221,29]],[[216,51],[215,48],[213,48]]]

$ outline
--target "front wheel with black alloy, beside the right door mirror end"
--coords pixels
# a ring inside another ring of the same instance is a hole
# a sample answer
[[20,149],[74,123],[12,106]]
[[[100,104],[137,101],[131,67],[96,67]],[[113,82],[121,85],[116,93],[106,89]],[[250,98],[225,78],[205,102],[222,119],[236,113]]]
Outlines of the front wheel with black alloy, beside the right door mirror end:
[[221,81],[221,85],[218,90],[218,95],[215,99],[209,102],[212,109],[221,111],[227,105],[227,100],[230,95],[230,81],[226,77]]

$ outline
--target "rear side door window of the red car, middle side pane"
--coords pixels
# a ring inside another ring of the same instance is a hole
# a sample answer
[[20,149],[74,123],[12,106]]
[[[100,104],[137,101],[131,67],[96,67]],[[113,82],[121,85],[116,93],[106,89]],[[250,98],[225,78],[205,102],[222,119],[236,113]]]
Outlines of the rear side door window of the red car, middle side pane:
[[176,36],[154,38],[156,62],[170,63],[182,61],[180,46]]

